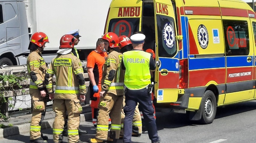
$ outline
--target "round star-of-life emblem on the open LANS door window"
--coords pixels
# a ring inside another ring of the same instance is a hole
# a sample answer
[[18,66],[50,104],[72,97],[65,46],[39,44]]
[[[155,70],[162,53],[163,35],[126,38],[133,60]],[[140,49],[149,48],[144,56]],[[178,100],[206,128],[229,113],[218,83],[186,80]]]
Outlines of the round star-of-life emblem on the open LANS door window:
[[170,22],[166,22],[163,26],[163,39],[168,48],[172,48],[174,46],[175,33]]

